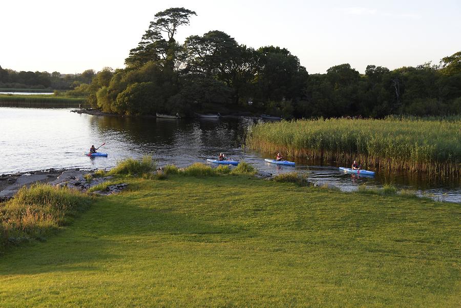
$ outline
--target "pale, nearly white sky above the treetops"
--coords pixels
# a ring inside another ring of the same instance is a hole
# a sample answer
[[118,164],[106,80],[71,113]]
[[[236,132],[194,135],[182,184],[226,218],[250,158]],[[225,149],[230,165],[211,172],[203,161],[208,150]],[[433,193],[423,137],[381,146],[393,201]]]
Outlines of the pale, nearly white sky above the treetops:
[[349,63],[417,66],[461,51],[461,0],[438,1],[5,1],[0,66],[62,74],[123,68],[155,13],[171,7],[197,16],[175,36],[220,30],[255,49],[280,46],[310,74]]

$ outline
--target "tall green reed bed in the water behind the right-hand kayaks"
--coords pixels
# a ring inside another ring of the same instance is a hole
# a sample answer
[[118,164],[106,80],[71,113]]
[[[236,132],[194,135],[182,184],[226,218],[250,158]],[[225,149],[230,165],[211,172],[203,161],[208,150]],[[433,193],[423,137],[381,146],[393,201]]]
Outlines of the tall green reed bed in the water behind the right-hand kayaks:
[[350,166],[461,177],[461,118],[319,119],[256,125],[247,145]]

